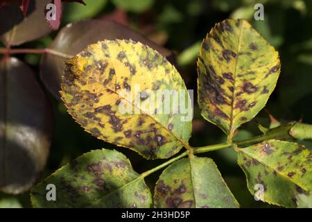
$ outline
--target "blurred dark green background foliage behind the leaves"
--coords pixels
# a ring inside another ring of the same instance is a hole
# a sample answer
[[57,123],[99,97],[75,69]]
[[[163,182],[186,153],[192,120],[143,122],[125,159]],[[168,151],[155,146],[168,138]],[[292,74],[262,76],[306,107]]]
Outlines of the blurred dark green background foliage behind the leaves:
[[[85,0],[64,3],[62,26],[80,19],[113,19],[146,35],[157,44],[171,49],[176,55],[176,66],[188,89],[196,94],[196,58],[200,42],[216,22],[223,19],[245,18],[279,51],[281,76],[266,111],[257,121],[268,124],[268,112],[282,121],[302,119],[312,123],[312,1],[311,0]],[[264,20],[254,20],[254,4],[263,3]],[[24,48],[44,48],[51,44],[58,31],[27,44]],[[40,56],[19,55],[39,72]],[[49,94],[49,92],[46,92]],[[48,163],[40,180],[73,158],[96,148],[116,148],[130,158],[139,173],[164,162],[147,161],[132,151],[101,142],[85,133],[67,114],[64,105],[49,94],[55,116],[55,130]],[[255,121],[243,125],[236,139],[259,135]],[[205,146],[225,141],[221,130],[200,116],[194,101],[192,146]],[[312,143],[306,142],[312,148]],[[222,173],[227,185],[242,207],[274,207],[255,201],[248,192],[243,171],[236,164],[236,153],[226,149],[208,153]],[[146,178],[153,185],[161,171]],[[0,207],[31,207],[29,192],[18,196],[0,194]]]

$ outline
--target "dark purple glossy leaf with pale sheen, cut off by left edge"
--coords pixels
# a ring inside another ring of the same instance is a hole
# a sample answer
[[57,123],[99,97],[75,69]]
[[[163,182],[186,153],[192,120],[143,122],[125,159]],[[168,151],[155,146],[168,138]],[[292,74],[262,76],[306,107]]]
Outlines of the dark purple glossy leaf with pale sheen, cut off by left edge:
[[49,101],[35,74],[17,58],[0,64],[0,190],[33,186],[46,164],[52,131]]

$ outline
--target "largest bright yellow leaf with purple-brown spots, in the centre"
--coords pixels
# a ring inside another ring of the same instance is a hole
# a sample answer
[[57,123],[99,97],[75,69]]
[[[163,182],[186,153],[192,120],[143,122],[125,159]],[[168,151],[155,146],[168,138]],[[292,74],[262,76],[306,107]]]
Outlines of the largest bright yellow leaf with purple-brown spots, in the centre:
[[[89,45],[66,62],[60,93],[87,132],[146,158],[171,157],[189,141],[191,101],[180,74],[139,42]],[[188,105],[185,112],[182,103]]]

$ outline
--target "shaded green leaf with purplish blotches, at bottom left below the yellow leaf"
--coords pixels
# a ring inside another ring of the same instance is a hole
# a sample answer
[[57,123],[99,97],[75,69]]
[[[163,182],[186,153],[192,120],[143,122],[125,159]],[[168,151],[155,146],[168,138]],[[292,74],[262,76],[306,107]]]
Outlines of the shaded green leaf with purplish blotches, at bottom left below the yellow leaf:
[[[46,186],[55,185],[55,201]],[[31,192],[33,207],[150,207],[150,190],[118,151],[95,150],[78,157]]]

